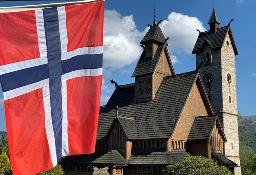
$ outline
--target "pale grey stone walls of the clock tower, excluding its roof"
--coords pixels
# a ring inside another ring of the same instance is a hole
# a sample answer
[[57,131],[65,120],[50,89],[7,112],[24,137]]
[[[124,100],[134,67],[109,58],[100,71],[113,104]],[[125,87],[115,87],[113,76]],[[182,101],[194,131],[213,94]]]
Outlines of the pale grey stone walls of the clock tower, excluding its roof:
[[[227,158],[240,166],[235,54],[229,35],[226,36],[222,48],[212,50],[209,45],[206,45],[204,52],[196,54],[196,65],[199,65],[202,59],[207,57],[207,52],[210,53],[212,63],[201,66],[200,76],[205,85],[207,95],[210,96],[210,102],[214,112],[220,110],[220,122],[228,140],[228,142],[225,143],[224,153]],[[213,81],[207,83],[205,82],[205,75],[209,73],[213,75]],[[231,83],[227,80],[228,74],[231,75]],[[235,168],[235,174],[241,175],[240,167]]]

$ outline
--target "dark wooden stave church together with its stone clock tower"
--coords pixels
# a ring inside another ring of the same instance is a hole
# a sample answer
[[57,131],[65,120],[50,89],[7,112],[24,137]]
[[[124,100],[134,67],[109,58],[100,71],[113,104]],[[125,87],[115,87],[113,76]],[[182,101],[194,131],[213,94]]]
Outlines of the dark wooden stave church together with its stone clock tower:
[[62,159],[65,175],[162,175],[167,165],[189,155],[212,158],[241,174],[238,50],[230,23],[220,27],[213,9],[210,28],[198,30],[192,51],[196,70],[181,74],[175,74],[160,23],[154,20],[141,40],[135,82],[111,80],[115,91],[100,107],[95,153]]

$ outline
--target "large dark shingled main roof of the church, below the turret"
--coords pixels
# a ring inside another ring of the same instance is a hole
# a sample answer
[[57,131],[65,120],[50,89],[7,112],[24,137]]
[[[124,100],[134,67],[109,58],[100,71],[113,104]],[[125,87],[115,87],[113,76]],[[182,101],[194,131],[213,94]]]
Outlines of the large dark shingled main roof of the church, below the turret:
[[136,139],[170,138],[197,76],[193,71],[165,77],[154,100],[147,102],[134,103],[134,85],[115,89],[100,114],[97,140],[105,140],[116,106],[118,115],[135,117]]

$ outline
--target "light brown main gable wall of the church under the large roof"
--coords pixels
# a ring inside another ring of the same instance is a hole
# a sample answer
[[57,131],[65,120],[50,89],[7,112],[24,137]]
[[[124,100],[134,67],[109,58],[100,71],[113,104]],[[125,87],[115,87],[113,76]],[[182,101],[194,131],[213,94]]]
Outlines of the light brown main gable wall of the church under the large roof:
[[172,139],[187,140],[189,132],[197,116],[213,115],[212,107],[203,88],[201,79],[197,76],[189,93],[184,108],[177,122]]

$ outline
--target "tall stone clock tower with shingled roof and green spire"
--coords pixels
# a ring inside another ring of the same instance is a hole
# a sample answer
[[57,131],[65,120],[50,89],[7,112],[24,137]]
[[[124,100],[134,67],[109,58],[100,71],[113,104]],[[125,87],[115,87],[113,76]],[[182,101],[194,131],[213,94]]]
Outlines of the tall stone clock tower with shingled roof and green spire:
[[[219,28],[220,20],[213,9],[208,21],[210,30],[199,31],[192,53],[196,54],[196,66],[200,67],[199,73],[212,108],[214,112],[218,112],[223,125],[228,141],[224,144],[224,154],[240,166],[235,67],[235,55],[238,55],[238,51],[230,23]],[[202,60],[205,60],[203,65]],[[241,174],[240,167],[235,168],[235,174]]]

